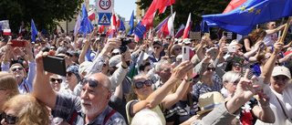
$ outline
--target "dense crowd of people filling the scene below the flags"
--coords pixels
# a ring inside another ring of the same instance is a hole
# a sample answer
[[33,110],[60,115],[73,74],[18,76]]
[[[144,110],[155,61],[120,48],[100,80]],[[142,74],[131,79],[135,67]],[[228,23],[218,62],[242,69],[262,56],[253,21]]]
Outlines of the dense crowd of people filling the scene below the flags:
[[[292,41],[276,35],[285,26],[267,22],[240,40],[135,41],[97,27],[86,36],[17,37],[25,47],[2,38],[1,124],[291,124]],[[64,58],[65,76],[45,70],[47,56]]]

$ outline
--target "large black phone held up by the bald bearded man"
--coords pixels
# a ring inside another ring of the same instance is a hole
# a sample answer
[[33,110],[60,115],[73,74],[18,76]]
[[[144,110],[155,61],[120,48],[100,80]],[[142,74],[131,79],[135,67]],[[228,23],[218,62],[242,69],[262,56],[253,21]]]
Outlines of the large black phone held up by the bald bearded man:
[[51,56],[43,57],[43,64],[45,71],[66,77],[65,58]]

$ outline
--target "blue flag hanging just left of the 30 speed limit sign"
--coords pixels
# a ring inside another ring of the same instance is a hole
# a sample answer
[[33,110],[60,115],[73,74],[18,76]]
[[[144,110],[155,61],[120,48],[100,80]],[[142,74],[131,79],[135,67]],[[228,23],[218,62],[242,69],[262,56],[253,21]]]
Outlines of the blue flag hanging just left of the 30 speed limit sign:
[[91,29],[93,29],[93,26],[89,20],[88,11],[86,10],[85,4],[83,4],[81,24],[78,31],[83,32],[85,34],[84,36],[86,36],[91,32]]

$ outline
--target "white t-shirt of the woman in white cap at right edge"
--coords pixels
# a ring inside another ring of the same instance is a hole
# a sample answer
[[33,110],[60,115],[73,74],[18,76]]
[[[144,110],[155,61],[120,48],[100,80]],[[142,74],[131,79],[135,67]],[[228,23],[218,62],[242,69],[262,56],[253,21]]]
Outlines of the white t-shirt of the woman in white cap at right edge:
[[285,125],[286,117],[279,104],[277,98],[281,101],[283,108],[285,109],[287,116],[292,118],[292,83],[289,83],[284,89],[283,94],[277,93],[274,89],[271,89],[268,85],[263,85],[264,91],[270,97],[270,108],[274,111],[275,123],[264,123],[261,120],[256,120],[255,125]]

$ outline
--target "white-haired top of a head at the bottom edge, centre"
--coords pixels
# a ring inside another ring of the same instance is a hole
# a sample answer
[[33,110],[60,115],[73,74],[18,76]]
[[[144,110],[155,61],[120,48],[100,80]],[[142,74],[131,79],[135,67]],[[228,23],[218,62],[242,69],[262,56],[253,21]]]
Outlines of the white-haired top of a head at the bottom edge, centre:
[[141,109],[131,120],[131,125],[163,125],[163,122],[162,118],[151,109]]

